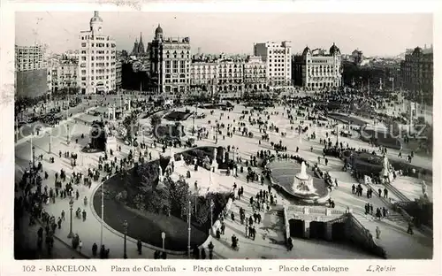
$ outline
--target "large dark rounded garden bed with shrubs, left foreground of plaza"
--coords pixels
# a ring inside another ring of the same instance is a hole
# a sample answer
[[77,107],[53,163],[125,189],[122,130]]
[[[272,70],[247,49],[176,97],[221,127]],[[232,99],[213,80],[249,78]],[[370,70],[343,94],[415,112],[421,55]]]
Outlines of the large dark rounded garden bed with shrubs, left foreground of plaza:
[[[181,154],[183,153],[178,153],[175,155],[175,157],[179,157]],[[107,225],[120,233],[124,232],[123,222],[126,220],[128,224],[128,236],[132,237],[133,239],[140,239],[141,242],[146,242],[158,248],[161,248],[163,245],[161,234],[164,232],[166,234],[165,249],[184,252],[187,251],[187,219],[174,212],[172,207],[172,210],[168,213],[162,211],[148,211],[146,210],[149,208],[148,203],[146,203],[146,208],[140,208],[138,207],[138,202],[135,202],[137,196],[139,196],[141,193],[141,180],[144,179],[141,177],[140,172],[145,172],[143,175],[149,176],[149,180],[152,182],[152,190],[155,190],[158,183],[158,175],[155,168],[157,168],[157,165],[161,165],[164,172],[168,163],[169,157],[165,157],[160,160],[155,160],[147,164],[140,165],[140,167],[153,165],[154,171],[149,171],[148,169],[142,171],[135,167],[126,171],[126,173],[118,173],[111,177],[110,180],[106,180],[103,183],[105,192],[105,211],[103,219]],[[170,183],[168,181],[171,180],[164,180],[164,183]],[[170,186],[168,185],[171,184],[166,184],[166,187],[169,188]],[[125,200],[121,200],[120,195],[122,193],[126,193]],[[183,191],[183,193],[187,192]],[[198,212],[196,214],[194,213],[194,196],[190,198],[191,201],[193,201],[191,227],[192,247],[200,246],[209,237],[210,199],[213,199],[215,203],[213,207],[213,221],[215,221],[221,210],[225,208],[228,196],[229,195],[227,194],[219,193],[209,194],[206,197],[199,196],[196,206]],[[160,203],[164,202],[164,198],[150,198],[150,200],[155,200],[155,202],[158,201]],[[99,189],[94,195],[93,204],[97,215],[101,216],[101,192]],[[185,213],[187,215],[187,211]]]

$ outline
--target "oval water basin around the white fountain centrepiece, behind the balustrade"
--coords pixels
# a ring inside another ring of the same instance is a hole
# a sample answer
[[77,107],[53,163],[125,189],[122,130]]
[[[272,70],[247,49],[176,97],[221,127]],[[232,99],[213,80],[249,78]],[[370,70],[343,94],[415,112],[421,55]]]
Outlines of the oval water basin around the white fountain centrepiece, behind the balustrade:
[[330,198],[330,190],[324,180],[307,169],[313,191],[302,191],[293,186],[295,176],[301,173],[301,165],[295,161],[274,161],[268,165],[271,169],[273,185],[278,186],[284,194],[300,203],[324,204]]

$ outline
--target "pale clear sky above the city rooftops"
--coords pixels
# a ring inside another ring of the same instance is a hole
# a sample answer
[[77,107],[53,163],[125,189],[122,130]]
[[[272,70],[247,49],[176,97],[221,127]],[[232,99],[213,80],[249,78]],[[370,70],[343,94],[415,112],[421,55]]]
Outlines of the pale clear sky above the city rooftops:
[[[94,12],[16,12],[16,44],[46,43],[50,51],[76,50],[81,30],[89,29]],[[396,56],[406,49],[430,47],[430,13],[190,13],[100,12],[103,34],[131,51],[140,37],[147,47],[158,24],[165,37],[190,37],[192,51],[253,54],[254,42],[290,41],[293,53],[309,46],[342,53],[362,50],[365,56]]]

